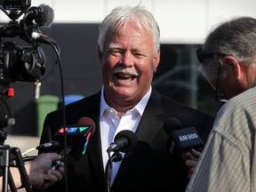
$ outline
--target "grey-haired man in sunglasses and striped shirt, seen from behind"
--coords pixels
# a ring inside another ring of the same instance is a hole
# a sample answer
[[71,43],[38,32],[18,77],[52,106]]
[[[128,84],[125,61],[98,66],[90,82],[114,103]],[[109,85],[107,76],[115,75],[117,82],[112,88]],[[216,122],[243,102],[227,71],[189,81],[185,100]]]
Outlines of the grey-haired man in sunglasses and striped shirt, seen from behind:
[[220,93],[228,101],[215,117],[198,163],[186,162],[194,172],[186,192],[256,191],[256,20],[222,23],[197,57],[216,99]]

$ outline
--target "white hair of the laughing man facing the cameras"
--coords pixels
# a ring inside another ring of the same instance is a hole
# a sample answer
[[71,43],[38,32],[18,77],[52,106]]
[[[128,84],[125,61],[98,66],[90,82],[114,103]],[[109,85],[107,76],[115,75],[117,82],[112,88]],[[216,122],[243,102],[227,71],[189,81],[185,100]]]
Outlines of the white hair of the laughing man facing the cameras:
[[154,52],[159,49],[160,43],[160,30],[159,26],[152,15],[151,12],[148,12],[146,8],[138,6],[119,6],[116,9],[112,10],[107,17],[100,24],[100,34],[98,38],[98,44],[100,46],[100,51],[104,50],[104,43],[106,37],[111,35],[113,32],[119,31],[120,28],[126,26],[126,24],[132,21],[136,24],[138,29],[148,30],[154,40],[155,49]]

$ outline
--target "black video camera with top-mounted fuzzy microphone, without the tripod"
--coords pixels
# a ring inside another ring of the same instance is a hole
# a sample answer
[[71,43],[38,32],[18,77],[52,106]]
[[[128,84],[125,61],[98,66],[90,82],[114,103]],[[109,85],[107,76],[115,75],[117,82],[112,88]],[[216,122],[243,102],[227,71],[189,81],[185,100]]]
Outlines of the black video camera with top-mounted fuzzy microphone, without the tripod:
[[[0,0],[0,9],[11,19],[7,25],[0,25],[1,85],[39,82],[44,75],[46,57],[39,44],[50,44],[52,39],[42,35],[40,27],[52,24],[53,11],[45,4],[38,7],[30,4],[30,0]],[[22,14],[24,17],[18,21]],[[4,37],[14,36],[19,36],[28,46],[4,42]]]

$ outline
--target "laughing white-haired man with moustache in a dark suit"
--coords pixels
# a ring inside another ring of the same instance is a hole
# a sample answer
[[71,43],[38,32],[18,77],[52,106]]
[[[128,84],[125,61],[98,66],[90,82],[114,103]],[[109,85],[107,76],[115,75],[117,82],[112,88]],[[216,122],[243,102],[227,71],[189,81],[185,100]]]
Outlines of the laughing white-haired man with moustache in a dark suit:
[[[116,7],[100,23],[101,89],[66,106],[67,124],[76,124],[84,116],[96,124],[84,155],[79,160],[68,156],[69,191],[185,191],[188,169],[166,147],[169,135],[164,122],[175,117],[184,127],[196,127],[206,140],[213,117],[165,97],[151,85],[160,60],[159,36],[154,16],[140,5]],[[40,142],[49,141],[48,135],[61,124],[61,108],[48,114]],[[132,132],[129,135],[135,135],[137,142],[123,133],[119,142],[125,141],[125,150],[117,145],[121,156],[113,158],[112,168],[106,169],[114,155],[107,149],[114,149],[112,143],[121,132]],[[64,187],[62,180],[45,192],[65,191]]]

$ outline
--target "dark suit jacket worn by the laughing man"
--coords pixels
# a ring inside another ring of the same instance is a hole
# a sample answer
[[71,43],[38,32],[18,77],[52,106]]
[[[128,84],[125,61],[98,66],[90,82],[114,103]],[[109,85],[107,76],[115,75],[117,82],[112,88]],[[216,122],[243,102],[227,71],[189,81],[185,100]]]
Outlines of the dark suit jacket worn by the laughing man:
[[[83,116],[91,117],[96,131],[89,140],[86,153],[78,161],[68,156],[68,191],[104,191],[104,169],[100,145],[100,92],[78,100],[66,107],[66,124],[76,124]],[[202,140],[207,140],[213,117],[188,108],[153,89],[148,105],[136,131],[138,145],[124,156],[111,192],[184,191],[188,184],[187,167],[172,156],[166,147],[168,135],[164,119],[176,117],[184,127],[196,127]],[[53,140],[52,136],[63,124],[63,110],[56,110],[44,121],[40,143]],[[65,191],[65,179],[45,191]]]

